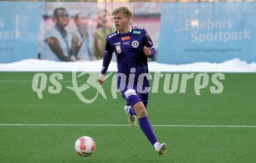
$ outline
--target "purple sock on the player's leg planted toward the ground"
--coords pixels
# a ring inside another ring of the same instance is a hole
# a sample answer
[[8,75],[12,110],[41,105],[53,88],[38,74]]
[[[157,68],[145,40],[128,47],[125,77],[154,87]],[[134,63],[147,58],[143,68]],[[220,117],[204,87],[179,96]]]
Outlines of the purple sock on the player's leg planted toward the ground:
[[151,124],[148,121],[148,117],[138,119],[138,123],[140,124],[140,128],[144,132],[145,136],[150,140],[150,143],[154,145],[157,142],[157,137],[155,137]]

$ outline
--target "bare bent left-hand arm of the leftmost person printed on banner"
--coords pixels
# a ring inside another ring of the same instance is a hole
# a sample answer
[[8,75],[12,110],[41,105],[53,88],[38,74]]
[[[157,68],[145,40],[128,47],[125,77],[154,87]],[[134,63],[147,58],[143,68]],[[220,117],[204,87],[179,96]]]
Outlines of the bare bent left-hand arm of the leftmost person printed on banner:
[[61,48],[61,45],[59,45],[59,41],[55,37],[49,37],[47,38],[47,43],[52,50],[52,52],[55,53],[55,55],[62,61],[73,61],[69,57],[65,56],[63,53],[63,50]]

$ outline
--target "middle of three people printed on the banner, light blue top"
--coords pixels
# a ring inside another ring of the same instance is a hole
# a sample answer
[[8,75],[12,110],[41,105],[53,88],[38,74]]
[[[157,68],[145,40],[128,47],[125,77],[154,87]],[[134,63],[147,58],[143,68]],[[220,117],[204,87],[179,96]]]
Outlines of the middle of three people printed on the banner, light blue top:
[[77,53],[76,59],[84,59],[87,61],[95,60],[94,56],[94,37],[91,32],[88,31],[88,27],[91,24],[91,19],[88,15],[83,12],[79,12],[74,16],[74,23],[77,26],[77,30],[74,31],[76,45],[81,45],[79,52]]

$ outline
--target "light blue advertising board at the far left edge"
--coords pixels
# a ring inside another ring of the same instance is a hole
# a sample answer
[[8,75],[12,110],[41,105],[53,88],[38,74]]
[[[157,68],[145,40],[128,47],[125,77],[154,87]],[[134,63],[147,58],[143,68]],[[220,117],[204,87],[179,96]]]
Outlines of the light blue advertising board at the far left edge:
[[0,2],[0,63],[37,58],[41,2]]

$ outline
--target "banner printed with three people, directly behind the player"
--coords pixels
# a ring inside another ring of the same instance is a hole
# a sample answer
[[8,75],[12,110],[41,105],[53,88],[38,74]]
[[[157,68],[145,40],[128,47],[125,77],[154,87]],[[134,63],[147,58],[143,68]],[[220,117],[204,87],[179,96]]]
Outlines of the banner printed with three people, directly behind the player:
[[[119,6],[127,6],[133,12],[130,25],[145,28],[157,48],[161,3],[45,2],[40,26],[40,59],[102,59],[106,37],[116,31],[112,11]],[[112,59],[116,60],[115,55]]]

